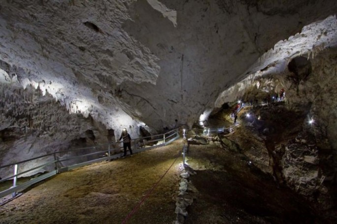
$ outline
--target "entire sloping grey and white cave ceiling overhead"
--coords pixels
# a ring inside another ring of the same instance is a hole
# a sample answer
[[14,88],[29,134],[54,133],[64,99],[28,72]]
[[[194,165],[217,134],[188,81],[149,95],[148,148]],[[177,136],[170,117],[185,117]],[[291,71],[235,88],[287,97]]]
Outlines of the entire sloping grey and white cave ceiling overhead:
[[249,75],[336,46],[336,12],[336,0],[3,0],[0,82],[107,128],[191,126]]

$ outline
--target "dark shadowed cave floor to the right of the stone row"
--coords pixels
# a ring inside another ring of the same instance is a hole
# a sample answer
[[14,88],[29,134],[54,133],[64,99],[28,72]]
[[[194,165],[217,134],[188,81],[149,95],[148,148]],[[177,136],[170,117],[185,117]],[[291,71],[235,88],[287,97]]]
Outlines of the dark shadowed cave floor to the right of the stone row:
[[215,145],[191,145],[188,165],[195,202],[185,224],[304,224],[321,223],[307,202],[278,186],[245,155]]

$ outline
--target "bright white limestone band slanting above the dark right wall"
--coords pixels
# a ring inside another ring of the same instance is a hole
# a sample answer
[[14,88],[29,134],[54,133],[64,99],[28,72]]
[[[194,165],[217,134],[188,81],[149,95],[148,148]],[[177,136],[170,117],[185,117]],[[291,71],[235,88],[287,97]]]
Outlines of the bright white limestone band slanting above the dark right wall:
[[306,56],[308,59],[314,58],[320,51],[336,46],[336,15],[305,26],[301,32],[277,42],[272,49],[262,55],[246,71],[247,78],[219,95],[215,101],[215,107],[220,108],[223,103],[232,102],[242,97],[246,87],[254,83],[255,78],[283,72],[287,69],[287,65],[292,58],[296,56]]

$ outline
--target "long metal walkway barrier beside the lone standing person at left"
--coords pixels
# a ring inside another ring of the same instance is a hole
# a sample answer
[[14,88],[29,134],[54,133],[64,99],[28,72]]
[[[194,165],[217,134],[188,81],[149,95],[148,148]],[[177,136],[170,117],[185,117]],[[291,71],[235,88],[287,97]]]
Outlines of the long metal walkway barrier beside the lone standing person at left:
[[[133,153],[142,152],[155,147],[160,147],[171,143],[179,138],[178,129],[144,138],[131,140]],[[28,160],[8,164],[0,167],[0,173],[8,173],[13,170],[13,175],[9,175],[0,180],[1,185],[8,185],[0,192],[0,198],[12,194],[16,196],[17,192],[23,191],[31,185],[56,175],[59,172],[90,165],[101,161],[116,159],[123,156],[123,141],[96,145],[92,147],[69,149],[48,153]],[[42,175],[37,176],[36,173]],[[1,177],[2,177],[1,174]],[[22,182],[19,177],[35,174],[35,178]],[[12,182],[12,184],[11,184]]]

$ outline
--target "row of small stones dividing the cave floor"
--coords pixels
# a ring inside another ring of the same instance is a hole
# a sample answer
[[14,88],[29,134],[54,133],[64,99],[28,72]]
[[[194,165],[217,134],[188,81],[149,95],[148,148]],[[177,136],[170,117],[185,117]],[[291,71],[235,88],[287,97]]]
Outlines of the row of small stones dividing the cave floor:
[[176,210],[175,213],[177,214],[176,220],[172,222],[172,224],[184,224],[185,217],[187,217],[188,213],[186,211],[187,206],[191,205],[193,203],[193,196],[191,192],[189,191],[188,185],[190,181],[188,181],[188,178],[190,175],[195,175],[195,171],[186,171],[183,170],[183,172],[180,174],[182,177],[179,182],[179,194],[176,197]]

